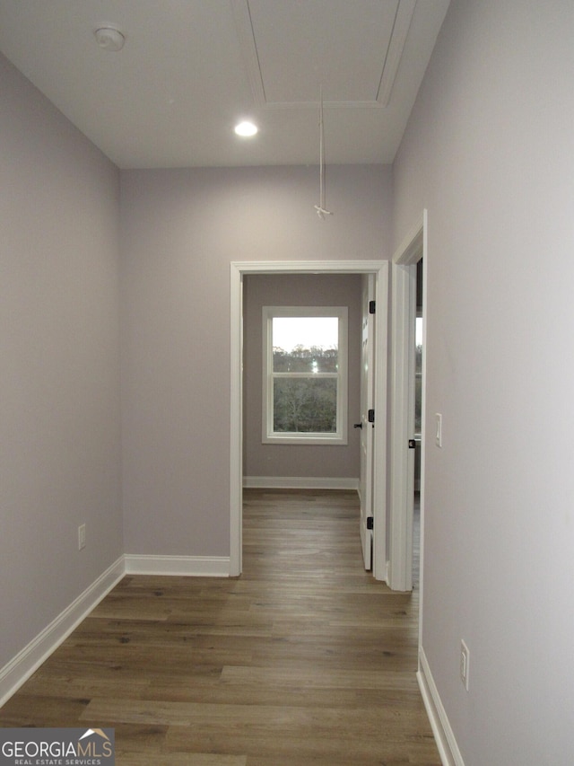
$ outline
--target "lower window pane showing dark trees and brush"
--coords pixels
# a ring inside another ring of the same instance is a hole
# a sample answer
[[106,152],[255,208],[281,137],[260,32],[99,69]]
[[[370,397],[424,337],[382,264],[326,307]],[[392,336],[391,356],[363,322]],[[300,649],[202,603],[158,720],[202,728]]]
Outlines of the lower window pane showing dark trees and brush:
[[274,380],[274,431],[335,434],[337,382],[335,378]]

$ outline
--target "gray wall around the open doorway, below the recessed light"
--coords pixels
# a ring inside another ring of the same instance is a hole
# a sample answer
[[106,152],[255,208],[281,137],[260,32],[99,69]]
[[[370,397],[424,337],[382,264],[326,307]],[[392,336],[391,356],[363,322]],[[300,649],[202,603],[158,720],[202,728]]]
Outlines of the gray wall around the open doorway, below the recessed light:
[[126,553],[230,552],[230,261],[389,257],[391,176],[329,168],[121,174]]

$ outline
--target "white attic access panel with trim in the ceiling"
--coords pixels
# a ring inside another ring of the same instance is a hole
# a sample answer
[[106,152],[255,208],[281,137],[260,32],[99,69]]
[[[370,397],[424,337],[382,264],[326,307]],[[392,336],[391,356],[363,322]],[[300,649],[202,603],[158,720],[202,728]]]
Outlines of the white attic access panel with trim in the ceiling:
[[[258,104],[387,106],[415,0],[233,0]],[[328,24],[326,23],[328,21]]]

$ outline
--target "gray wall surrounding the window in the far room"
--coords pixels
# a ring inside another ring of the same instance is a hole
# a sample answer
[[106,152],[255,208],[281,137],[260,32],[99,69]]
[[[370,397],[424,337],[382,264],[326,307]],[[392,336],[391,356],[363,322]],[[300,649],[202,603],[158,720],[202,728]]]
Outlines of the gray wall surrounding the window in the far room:
[[[245,476],[359,479],[361,420],[361,275],[269,275],[244,277],[244,422]],[[349,396],[347,445],[262,444],[263,306],[348,306]]]

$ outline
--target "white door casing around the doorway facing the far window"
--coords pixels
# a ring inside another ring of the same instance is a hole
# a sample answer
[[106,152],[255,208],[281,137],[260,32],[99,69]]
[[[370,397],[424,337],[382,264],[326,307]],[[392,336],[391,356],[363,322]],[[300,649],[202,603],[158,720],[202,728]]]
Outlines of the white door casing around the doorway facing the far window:
[[242,569],[243,497],[243,277],[247,274],[367,274],[383,310],[375,315],[375,392],[378,411],[373,436],[373,576],[387,580],[387,291],[388,262],[235,261],[230,264],[230,577]]

